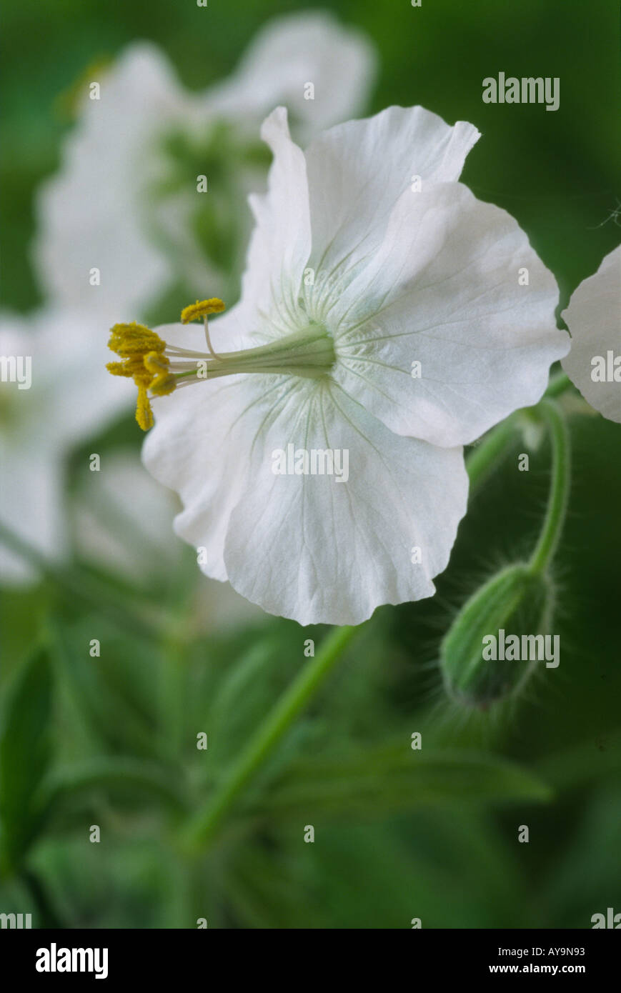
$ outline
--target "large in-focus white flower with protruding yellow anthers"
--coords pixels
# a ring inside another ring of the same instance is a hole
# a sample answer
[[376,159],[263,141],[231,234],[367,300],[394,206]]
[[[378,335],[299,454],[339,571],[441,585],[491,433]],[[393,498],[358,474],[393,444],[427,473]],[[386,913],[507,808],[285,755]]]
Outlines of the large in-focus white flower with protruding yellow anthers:
[[526,234],[456,182],[472,125],[390,107],[303,153],[279,108],[262,136],[242,298],[208,348],[179,325],[113,343],[152,394],[174,390],[144,461],[202,569],[300,624],[358,624],[433,594],[466,509],[461,446],[540,399],[568,338]]

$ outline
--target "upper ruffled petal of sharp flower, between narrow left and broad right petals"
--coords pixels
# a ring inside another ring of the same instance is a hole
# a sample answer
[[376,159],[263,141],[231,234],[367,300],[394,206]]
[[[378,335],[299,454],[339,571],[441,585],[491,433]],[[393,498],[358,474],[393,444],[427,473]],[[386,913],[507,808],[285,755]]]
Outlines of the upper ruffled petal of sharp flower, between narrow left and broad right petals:
[[389,214],[412,179],[459,179],[480,137],[473,124],[453,127],[423,107],[388,107],[375,117],[348,121],[320,135],[306,150],[313,229],[313,260],[330,273],[378,247]]

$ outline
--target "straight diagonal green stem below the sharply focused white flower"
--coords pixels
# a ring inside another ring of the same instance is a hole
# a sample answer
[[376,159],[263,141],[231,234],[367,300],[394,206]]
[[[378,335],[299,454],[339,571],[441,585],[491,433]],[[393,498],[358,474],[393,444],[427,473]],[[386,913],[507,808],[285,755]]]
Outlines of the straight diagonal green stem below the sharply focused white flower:
[[198,853],[211,840],[243,786],[281,741],[362,627],[336,628],[285,690],[234,763],[228,778],[185,827],[181,841],[188,854]]

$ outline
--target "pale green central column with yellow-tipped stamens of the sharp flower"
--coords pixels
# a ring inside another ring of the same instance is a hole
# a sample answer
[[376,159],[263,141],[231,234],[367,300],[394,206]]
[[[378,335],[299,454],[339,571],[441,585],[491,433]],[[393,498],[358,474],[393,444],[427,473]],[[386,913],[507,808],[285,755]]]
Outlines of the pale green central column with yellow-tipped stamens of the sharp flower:
[[106,368],[112,375],[134,380],[138,387],[136,420],[143,431],[153,427],[153,397],[166,396],[201,379],[240,372],[317,378],[334,365],[334,342],[322,325],[313,322],[255,349],[217,354],[210,339],[208,318],[224,309],[222,300],[213,298],[197,300],[182,311],[183,324],[203,318],[208,352],[167,345],[155,331],[135,322],[115,324],[111,329],[108,347],[121,360],[108,362]]

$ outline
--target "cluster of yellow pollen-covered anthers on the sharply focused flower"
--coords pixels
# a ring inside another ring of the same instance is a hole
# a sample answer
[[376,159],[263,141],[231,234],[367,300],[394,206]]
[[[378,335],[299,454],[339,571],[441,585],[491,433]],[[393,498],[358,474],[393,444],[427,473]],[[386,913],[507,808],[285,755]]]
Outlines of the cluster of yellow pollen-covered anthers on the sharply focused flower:
[[[202,300],[181,312],[182,324],[205,318],[209,314],[219,314],[225,304],[217,297]],[[166,396],[172,393],[177,379],[170,371],[170,359],[165,355],[166,342],[156,332],[135,321],[131,324],[115,324],[110,330],[108,348],[119,355],[121,361],[108,362],[106,368],[112,375],[127,376],[138,387],[136,420],[143,431],[153,427],[153,411],[149,399],[152,396]]]

